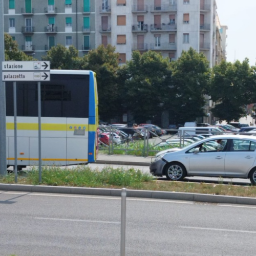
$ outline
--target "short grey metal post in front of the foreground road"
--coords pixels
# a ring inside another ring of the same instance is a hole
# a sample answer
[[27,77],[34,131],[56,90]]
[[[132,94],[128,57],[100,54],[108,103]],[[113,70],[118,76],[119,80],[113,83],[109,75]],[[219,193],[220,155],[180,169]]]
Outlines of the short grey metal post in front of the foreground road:
[[125,256],[126,188],[121,191],[121,256]]

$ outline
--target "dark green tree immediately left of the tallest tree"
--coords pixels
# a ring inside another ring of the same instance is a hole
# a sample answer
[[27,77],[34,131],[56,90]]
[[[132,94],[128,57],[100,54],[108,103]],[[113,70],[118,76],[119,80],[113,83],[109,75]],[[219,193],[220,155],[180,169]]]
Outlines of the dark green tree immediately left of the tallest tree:
[[161,54],[135,51],[122,71],[125,78],[123,103],[136,122],[145,122],[163,110],[163,99],[170,79],[169,61]]

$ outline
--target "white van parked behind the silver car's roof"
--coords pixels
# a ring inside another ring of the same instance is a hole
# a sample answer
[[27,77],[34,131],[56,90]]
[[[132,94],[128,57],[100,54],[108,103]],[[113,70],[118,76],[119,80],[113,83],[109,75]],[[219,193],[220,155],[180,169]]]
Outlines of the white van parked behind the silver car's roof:
[[207,127],[179,127],[178,137],[186,135],[196,135],[196,134],[210,134],[218,135],[223,134],[223,131],[217,126],[207,126]]

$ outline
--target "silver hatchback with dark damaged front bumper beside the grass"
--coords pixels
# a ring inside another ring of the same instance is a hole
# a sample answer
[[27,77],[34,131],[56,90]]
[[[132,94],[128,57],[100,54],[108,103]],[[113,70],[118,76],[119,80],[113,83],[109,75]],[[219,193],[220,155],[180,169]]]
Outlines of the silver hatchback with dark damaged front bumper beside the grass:
[[249,178],[254,185],[255,148],[254,136],[211,136],[176,151],[159,152],[150,165],[150,173],[173,181],[188,176]]

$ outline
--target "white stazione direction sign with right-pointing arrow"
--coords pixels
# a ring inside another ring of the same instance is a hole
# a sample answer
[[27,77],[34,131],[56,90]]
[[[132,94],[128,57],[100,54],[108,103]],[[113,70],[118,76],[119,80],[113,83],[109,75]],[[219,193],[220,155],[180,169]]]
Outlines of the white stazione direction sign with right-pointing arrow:
[[3,61],[3,71],[50,71],[50,61]]

